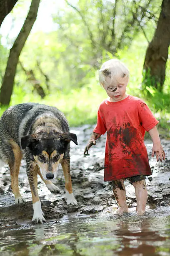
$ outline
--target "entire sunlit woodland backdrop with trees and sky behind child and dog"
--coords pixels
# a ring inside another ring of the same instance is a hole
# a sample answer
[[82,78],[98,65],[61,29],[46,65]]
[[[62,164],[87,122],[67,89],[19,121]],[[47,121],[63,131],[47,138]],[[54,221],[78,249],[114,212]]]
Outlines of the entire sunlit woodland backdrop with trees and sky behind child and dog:
[[[2,2],[7,7],[7,0]],[[99,85],[97,71],[106,60],[118,58],[130,70],[128,94],[142,98],[149,105],[160,120],[159,131],[169,136],[168,50],[166,57],[163,56],[166,51],[161,54],[159,49],[158,58],[153,51],[148,52],[156,45],[158,55],[158,41],[164,50],[169,47],[170,29],[166,30],[166,24],[163,24],[167,22],[166,11],[170,13],[169,0],[12,2],[14,7],[7,11],[9,14],[6,13],[0,26],[0,115],[9,105],[39,102],[59,108],[70,126],[94,124],[98,106],[107,97]],[[21,36],[27,30],[23,24],[30,4],[36,4],[38,11],[34,13],[35,22],[32,22],[33,27],[23,43]],[[170,24],[170,15],[168,18]],[[20,44],[23,44],[20,53],[13,55],[14,50],[19,52],[16,49]],[[152,63],[147,62],[147,56]],[[9,60],[12,61],[10,64]],[[8,82],[6,78],[9,79],[10,72],[7,66],[14,67],[15,62],[13,82]],[[165,75],[161,73],[164,66]],[[10,90],[9,100],[3,104]]]

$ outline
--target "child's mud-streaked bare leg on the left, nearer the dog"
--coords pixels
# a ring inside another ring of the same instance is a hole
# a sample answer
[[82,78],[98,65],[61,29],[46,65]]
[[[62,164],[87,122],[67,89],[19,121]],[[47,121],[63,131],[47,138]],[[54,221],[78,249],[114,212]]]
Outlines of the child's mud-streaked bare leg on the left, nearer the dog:
[[113,181],[112,188],[117,204],[119,205],[119,208],[116,210],[115,213],[118,215],[122,215],[123,212],[128,212],[124,179],[118,179]]

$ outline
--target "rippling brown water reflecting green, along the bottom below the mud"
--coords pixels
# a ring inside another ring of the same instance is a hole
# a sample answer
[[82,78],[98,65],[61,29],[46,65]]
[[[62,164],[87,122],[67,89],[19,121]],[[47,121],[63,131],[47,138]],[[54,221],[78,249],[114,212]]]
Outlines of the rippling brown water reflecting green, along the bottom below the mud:
[[101,214],[1,230],[0,255],[170,255],[170,216],[162,215],[170,207],[164,210],[157,217]]

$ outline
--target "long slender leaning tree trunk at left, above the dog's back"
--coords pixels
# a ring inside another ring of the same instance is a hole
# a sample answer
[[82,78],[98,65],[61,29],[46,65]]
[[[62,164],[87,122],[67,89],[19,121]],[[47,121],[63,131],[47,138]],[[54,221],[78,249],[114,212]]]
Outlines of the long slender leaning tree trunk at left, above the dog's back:
[[40,0],[32,0],[30,10],[24,22],[24,25],[20,33],[18,34],[18,37],[16,38],[13,44],[13,47],[10,49],[10,55],[7,61],[7,67],[5,70],[5,75],[3,77],[2,87],[0,90],[1,105],[10,104],[10,98],[13,93],[14,78],[18,64],[18,59],[24,47],[25,41],[27,40],[32,29],[32,26],[36,20],[39,4]]

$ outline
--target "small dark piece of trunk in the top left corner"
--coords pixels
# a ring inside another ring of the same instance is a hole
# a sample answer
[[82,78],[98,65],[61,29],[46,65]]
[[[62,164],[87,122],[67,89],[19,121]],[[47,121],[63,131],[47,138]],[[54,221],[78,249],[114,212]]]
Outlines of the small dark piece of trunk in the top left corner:
[[18,0],[0,0],[0,26],[6,15],[10,13]]

